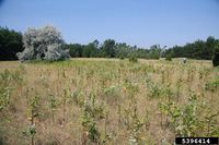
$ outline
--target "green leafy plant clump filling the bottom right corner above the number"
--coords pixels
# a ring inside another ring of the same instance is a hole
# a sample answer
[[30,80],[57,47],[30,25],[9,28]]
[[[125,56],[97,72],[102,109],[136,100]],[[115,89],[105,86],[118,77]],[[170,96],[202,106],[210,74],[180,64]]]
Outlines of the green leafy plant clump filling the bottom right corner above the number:
[[159,110],[168,116],[171,128],[178,136],[211,136],[219,133],[217,124],[218,113],[208,111],[204,118],[199,117],[205,104],[196,94],[191,94],[188,102],[184,106],[176,105],[173,100],[159,104]]

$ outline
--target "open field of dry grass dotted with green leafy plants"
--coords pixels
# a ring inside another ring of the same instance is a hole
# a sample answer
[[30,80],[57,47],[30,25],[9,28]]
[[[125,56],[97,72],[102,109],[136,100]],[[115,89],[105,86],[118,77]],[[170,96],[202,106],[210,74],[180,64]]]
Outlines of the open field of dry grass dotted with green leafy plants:
[[219,136],[211,61],[0,62],[0,144],[169,145]]

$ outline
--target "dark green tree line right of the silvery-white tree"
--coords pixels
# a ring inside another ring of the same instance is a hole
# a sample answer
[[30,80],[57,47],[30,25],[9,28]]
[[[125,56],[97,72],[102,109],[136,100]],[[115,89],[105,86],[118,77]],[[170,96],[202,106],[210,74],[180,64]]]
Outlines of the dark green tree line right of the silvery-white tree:
[[[189,58],[189,59],[212,59],[216,46],[219,39],[209,36],[206,40],[196,40],[185,46],[174,46],[170,49],[153,45],[149,49],[129,46],[126,43],[116,43],[114,39],[106,39],[100,45],[97,40],[88,45],[70,44],[71,57],[103,57],[103,58],[130,58],[132,56],[143,59],[159,59],[161,57],[171,58]],[[97,45],[96,45],[97,44]]]

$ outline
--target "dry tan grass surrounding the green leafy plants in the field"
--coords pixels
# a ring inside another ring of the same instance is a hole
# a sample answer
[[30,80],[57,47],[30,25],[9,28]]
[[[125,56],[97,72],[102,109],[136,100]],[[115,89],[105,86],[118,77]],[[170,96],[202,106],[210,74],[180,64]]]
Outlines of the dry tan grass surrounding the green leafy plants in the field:
[[[172,144],[176,132],[165,121],[161,122],[159,102],[168,98],[161,93],[159,97],[149,97],[150,88],[146,78],[151,76],[153,83],[168,87],[176,98],[176,84],[182,80],[180,97],[176,104],[186,105],[191,94],[196,94],[205,101],[211,112],[219,111],[219,90],[206,90],[205,85],[219,78],[219,70],[211,67],[210,61],[189,60],[183,64],[180,60],[128,60],[116,59],[72,59],[56,63],[20,63],[18,61],[0,62],[0,73],[19,72],[20,83],[11,82],[10,105],[0,111],[0,142],[5,144],[30,144],[31,137],[23,135],[30,126],[30,106],[27,100],[39,97],[35,118],[35,144],[82,144],[84,126],[82,126],[83,105],[76,102],[73,94],[80,92],[80,98],[89,101],[90,94],[96,96],[96,104],[103,105],[103,119],[95,119],[100,140],[87,144],[128,144],[130,129],[127,126],[125,110],[131,112],[134,100],[137,101],[137,114],[142,128],[139,128],[139,144]],[[130,88],[127,86],[129,82]],[[2,82],[0,83],[2,84]],[[132,89],[137,88],[137,92]],[[66,96],[65,96],[66,90]],[[130,94],[134,95],[131,96]],[[50,97],[57,100],[54,113],[50,109]],[[66,104],[65,99],[66,98]],[[119,113],[120,110],[120,113]],[[207,108],[203,110],[206,112]],[[108,112],[108,119],[105,118]],[[204,118],[206,113],[198,114]],[[217,119],[218,116],[217,116]],[[120,120],[120,122],[119,122]],[[131,120],[131,119],[130,119]],[[169,120],[170,121],[170,120]],[[164,126],[161,126],[161,123]],[[216,122],[218,124],[218,122]],[[218,131],[219,132],[219,131]],[[87,131],[85,131],[87,133]],[[205,130],[196,135],[206,135]]]

